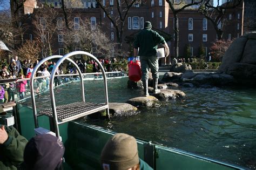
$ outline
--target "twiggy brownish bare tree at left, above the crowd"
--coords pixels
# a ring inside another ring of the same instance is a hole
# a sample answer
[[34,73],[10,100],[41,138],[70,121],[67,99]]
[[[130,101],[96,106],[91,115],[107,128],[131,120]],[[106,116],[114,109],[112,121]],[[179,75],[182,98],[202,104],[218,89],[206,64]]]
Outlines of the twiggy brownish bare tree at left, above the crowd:
[[53,36],[57,32],[56,16],[58,16],[57,10],[49,7],[35,11],[35,16],[33,16],[34,32],[44,44],[43,51],[45,56],[52,55]]

